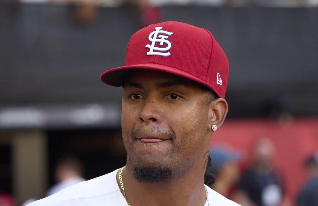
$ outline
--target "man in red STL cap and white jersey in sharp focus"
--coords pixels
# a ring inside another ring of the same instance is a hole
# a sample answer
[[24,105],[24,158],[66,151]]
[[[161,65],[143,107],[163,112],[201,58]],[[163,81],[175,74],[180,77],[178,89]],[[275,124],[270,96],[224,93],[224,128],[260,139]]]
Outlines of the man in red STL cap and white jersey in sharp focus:
[[125,66],[101,75],[123,87],[126,166],[31,205],[238,205],[204,185],[211,134],[228,110],[228,72],[205,29],[164,22],[137,31]]

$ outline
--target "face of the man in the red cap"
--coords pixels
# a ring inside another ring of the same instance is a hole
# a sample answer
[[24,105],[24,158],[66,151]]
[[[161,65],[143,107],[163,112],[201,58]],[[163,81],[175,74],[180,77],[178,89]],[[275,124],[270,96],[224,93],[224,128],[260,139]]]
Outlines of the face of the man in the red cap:
[[134,168],[160,168],[173,177],[190,168],[205,170],[211,137],[209,95],[199,83],[166,72],[130,73],[123,90],[121,125]]

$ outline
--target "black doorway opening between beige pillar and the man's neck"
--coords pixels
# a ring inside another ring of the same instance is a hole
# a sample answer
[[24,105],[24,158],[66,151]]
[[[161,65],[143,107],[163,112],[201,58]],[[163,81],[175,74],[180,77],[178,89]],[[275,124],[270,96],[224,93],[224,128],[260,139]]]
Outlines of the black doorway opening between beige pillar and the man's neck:
[[54,184],[54,166],[68,155],[84,165],[84,177],[92,179],[126,164],[121,130],[51,130],[48,131],[50,185]]

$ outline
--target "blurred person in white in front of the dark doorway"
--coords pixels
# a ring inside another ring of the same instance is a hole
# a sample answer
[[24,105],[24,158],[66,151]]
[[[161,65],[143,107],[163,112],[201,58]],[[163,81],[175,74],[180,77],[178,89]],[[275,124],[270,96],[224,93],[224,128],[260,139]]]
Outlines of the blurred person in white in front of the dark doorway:
[[83,175],[84,166],[79,159],[73,156],[63,156],[59,158],[54,169],[56,184],[49,188],[46,196],[53,195],[69,186],[86,181]]

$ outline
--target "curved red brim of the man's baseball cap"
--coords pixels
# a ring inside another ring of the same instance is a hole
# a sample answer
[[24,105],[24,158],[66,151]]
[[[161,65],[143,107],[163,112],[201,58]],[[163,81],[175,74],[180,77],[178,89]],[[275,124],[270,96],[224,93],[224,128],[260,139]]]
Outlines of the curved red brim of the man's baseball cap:
[[206,87],[210,88],[211,90],[215,91],[214,88],[211,88],[211,86],[207,85],[204,81],[185,71],[182,71],[173,67],[165,66],[162,64],[155,64],[155,63],[135,64],[135,65],[122,66],[122,67],[117,67],[111,70],[107,70],[101,74],[100,80],[105,84],[108,84],[114,87],[120,87],[120,86],[123,86],[123,84],[125,83],[126,77],[133,69],[149,69],[149,70],[158,70],[158,71],[168,72],[168,73],[182,76],[182,77],[191,79],[193,81],[196,81],[198,83],[201,83],[205,85]]

